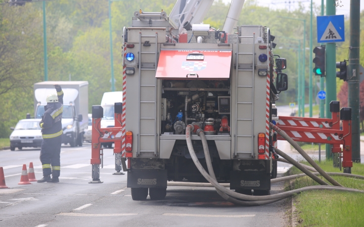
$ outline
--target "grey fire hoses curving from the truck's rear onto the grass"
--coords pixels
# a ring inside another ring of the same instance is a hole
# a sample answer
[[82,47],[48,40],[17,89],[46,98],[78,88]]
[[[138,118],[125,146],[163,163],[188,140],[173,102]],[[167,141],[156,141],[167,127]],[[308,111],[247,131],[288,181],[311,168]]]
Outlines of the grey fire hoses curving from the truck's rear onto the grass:
[[[211,163],[211,158],[210,158],[210,153],[208,151],[208,146],[207,146],[207,140],[205,138],[205,135],[203,134],[202,130],[197,131],[197,134],[201,137],[201,141],[203,144],[203,148],[204,148],[204,153],[205,153],[205,158],[206,158],[206,163],[207,163],[207,168],[209,173],[207,173],[204,169],[204,167],[201,165],[200,161],[198,160],[196,153],[194,151],[193,145],[192,145],[192,140],[191,140],[191,130],[193,129],[193,125],[188,125],[186,127],[186,141],[187,141],[187,146],[188,149],[190,151],[192,160],[194,161],[196,167],[199,169],[200,173],[206,178],[206,180],[213,186],[215,187],[217,193],[223,197],[224,199],[234,203],[234,204],[238,204],[238,205],[243,205],[243,206],[258,206],[258,205],[264,205],[264,204],[268,204],[268,203],[272,203],[272,202],[276,202],[278,200],[281,199],[285,199],[287,197],[290,197],[296,193],[300,193],[300,192],[304,192],[304,191],[312,191],[312,190],[336,190],[336,191],[346,191],[346,192],[360,192],[360,193],[364,193],[364,191],[361,190],[357,190],[357,189],[351,189],[351,188],[345,188],[342,187],[339,183],[337,183],[334,179],[332,179],[326,172],[323,171],[323,169],[320,168],[319,165],[317,165],[315,162],[313,162],[313,160],[301,149],[301,152],[304,153],[302,156],[304,158],[310,159],[312,160],[312,162],[315,165],[312,165],[310,161],[308,161],[315,169],[317,172],[319,172],[323,177],[325,177],[325,179],[330,179],[330,183],[341,186],[328,186],[327,183],[325,183],[325,185],[321,185],[321,186],[308,186],[308,187],[303,187],[300,189],[295,189],[292,191],[288,191],[288,192],[282,192],[282,193],[278,193],[278,194],[274,194],[274,195],[266,195],[266,196],[252,196],[252,195],[244,195],[244,194],[240,194],[237,192],[233,192],[229,189],[226,189],[224,186],[220,185],[215,178],[215,174],[213,172],[213,168],[212,168],[212,163]],[[272,127],[272,126],[271,126]],[[276,127],[276,126],[275,126]],[[285,134],[282,130],[280,130],[278,127],[276,127],[275,129],[280,135]],[[282,134],[281,134],[282,133]],[[282,135],[283,137],[288,137],[288,135],[286,134],[285,136]],[[289,138],[289,137],[288,137]],[[291,139],[291,138],[290,138]],[[286,139],[288,142],[290,142],[291,144],[294,143],[295,145],[293,145],[293,147],[299,147],[297,143],[295,143],[292,139],[288,140]],[[300,148],[300,147],[299,147]],[[297,148],[296,148],[297,149]],[[300,153],[301,153],[300,152]],[[294,164],[296,167],[301,168],[302,165],[297,163],[292,163]],[[308,173],[308,172],[306,172]],[[317,173],[318,174],[318,173]],[[325,175],[325,176],[324,176]],[[315,176],[315,175],[311,175],[310,177]],[[313,179],[313,180],[317,180],[317,179]],[[321,180],[321,179],[320,179]],[[241,201],[238,199],[242,199],[242,200],[248,200],[248,201]]]

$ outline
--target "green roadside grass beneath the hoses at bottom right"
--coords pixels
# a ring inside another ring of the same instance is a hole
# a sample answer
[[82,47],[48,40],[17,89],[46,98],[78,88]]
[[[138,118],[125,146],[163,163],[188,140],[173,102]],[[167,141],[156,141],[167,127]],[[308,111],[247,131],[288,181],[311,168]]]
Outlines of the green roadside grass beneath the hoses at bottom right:
[[[302,162],[308,164],[307,162]],[[340,172],[334,168],[332,161],[318,163],[326,172]],[[364,176],[364,165],[353,163],[352,174]],[[292,167],[288,175],[302,173]],[[344,187],[364,190],[364,180],[332,176]],[[321,179],[325,180],[320,176]],[[326,181],[326,180],[325,180]],[[327,182],[327,181],[326,181]],[[318,185],[308,177],[296,179],[287,189],[302,188]],[[298,194],[295,197],[298,219],[302,219],[302,226],[363,226],[364,223],[364,194],[335,192],[335,191],[310,191]]]

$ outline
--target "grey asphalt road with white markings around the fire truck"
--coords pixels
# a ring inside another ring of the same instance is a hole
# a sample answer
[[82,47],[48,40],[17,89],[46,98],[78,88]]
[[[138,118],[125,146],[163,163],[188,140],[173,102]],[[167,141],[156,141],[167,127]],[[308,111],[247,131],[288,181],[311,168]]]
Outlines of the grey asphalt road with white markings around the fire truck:
[[[22,165],[32,161],[42,177],[39,149],[0,151],[0,166],[10,189],[0,189],[0,226],[284,226],[285,201],[239,207],[213,188],[168,187],[166,199],[133,201],[126,175],[112,175],[114,156],[104,150],[103,184],[91,181],[90,145],[61,149],[60,183],[18,185]],[[282,164],[279,172],[288,165]],[[279,175],[281,175],[281,173]],[[283,191],[274,184],[271,194]]]

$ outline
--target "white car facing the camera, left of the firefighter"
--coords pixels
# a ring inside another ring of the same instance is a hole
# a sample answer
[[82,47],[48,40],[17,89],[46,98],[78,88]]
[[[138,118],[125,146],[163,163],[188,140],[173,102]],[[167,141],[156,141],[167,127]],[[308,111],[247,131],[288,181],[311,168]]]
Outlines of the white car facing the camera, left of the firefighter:
[[24,119],[20,120],[10,135],[10,150],[14,151],[17,147],[19,150],[23,147],[40,147],[43,141],[39,122],[41,119]]

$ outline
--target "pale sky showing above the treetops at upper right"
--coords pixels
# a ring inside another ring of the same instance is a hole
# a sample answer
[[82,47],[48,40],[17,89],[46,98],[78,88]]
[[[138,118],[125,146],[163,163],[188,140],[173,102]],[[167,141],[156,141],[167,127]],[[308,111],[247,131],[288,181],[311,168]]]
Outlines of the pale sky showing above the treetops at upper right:
[[[231,3],[231,0],[223,0],[225,3]],[[256,0],[259,6],[269,6],[271,9],[291,9],[294,10],[298,7],[298,3],[302,3],[307,10],[310,9],[310,0]],[[321,0],[312,0],[313,4],[316,6],[321,6]],[[341,3],[340,3],[341,2]],[[324,0],[326,4],[326,0]],[[336,7],[336,15],[345,15],[348,17],[350,14],[350,0],[339,0],[339,4],[342,7]],[[360,12],[364,10],[364,1],[360,0]]]

